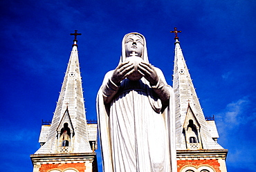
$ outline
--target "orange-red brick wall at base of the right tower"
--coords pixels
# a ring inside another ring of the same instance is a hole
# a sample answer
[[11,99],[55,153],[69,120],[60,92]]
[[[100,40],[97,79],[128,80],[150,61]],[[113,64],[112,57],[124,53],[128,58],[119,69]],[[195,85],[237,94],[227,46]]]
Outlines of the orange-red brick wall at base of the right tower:
[[219,170],[219,162],[218,160],[178,160],[178,172],[181,171],[183,166],[194,166],[196,169],[199,168],[201,165],[208,165],[211,166],[216,172],[221,172]]

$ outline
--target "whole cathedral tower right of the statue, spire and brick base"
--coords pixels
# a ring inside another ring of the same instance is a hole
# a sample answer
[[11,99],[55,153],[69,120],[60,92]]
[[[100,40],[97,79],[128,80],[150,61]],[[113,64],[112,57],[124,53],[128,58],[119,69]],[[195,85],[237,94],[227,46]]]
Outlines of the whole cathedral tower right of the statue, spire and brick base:
[[174,28],[175,55],[173,88],[176,100],[176,157],[178,172],[226,171],[227,149],[218,143],[214,118],[203,115],[199,98],[185,63]]

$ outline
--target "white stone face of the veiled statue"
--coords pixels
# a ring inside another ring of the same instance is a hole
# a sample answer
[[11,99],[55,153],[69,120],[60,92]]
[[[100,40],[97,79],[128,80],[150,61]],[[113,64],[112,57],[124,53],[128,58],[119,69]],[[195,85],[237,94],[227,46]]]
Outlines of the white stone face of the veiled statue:
[[136,52],[138,54],[138,57],[141,57],[143,52],[143,38],[138,35],[129,35],[125,39],[125,54],[126,57],[131,56],[132,52]]

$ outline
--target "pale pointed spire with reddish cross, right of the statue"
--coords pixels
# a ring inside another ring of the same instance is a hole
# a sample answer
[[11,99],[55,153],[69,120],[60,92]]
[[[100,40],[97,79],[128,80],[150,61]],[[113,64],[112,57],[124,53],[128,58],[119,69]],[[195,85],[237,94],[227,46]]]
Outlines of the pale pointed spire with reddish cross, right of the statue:
[[[205,117],[201,105],[199,103],[199,98],[196,95],[196,90],[192,83],[188,67],[185,63],[183,57],[183,52],[181,50],[179,37],[177,37],[178,31],[174,28],[175,33],[175,55],[174,55],[174,75],[173,75],[173,88],[176,99],[176,136],[179,147],[177,149],[185,149],[185,140],[183,138],[183,124],[188,113],[188,106],[190,106],[191,111],[194,113],[196,120],[199,122],[201,128],[201,139],[203,144],[203,149],[214,149],[222,147],[216,144],[208,131],[208,126],[205,122]],[[189,102],[188,102],[189,100]]]

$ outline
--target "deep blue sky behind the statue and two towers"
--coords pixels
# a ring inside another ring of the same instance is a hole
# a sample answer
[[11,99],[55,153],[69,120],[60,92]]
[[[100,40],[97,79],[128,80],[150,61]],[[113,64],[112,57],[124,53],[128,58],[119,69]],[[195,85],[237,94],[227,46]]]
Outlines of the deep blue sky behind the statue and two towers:
[[[32,171],[42,119],[51,120],[78,36],[86,117],[122,37],[140,32],[172,85],[174,27],[205,116],[215,117],[228,171],[256,168],[254,0],[0,1],[1,171]],[[99,162],[100,164],[100,162]]]

